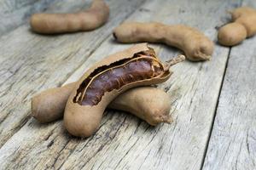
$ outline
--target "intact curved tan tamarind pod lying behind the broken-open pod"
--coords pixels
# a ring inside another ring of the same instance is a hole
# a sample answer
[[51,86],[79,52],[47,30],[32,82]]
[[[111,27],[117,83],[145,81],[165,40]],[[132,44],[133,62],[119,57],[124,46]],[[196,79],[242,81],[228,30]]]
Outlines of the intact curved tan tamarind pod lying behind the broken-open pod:
[[163,42],[183,50],[191,61],[208,60],[213,52],[210,39],[195,28],[183,25],[125,22],[114,29],[113,37],[118,42]]

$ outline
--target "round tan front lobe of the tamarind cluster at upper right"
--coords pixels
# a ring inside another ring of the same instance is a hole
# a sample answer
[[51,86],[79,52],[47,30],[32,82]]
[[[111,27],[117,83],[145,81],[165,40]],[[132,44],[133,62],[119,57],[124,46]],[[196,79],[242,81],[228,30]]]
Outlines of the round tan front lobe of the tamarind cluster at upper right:
[[218,42],[225,46],[234,46],[246,38],[246,28],[236,22],[227,24],[218,30]]

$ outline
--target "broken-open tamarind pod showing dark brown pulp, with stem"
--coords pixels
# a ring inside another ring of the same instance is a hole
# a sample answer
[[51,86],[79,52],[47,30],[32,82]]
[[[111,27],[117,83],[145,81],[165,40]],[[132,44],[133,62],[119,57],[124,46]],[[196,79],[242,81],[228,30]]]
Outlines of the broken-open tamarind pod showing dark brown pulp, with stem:
[[67,100],[67,131],[74,136],[90,136],[115,97],[129,88],[165,82],[172,75],[169,68],[183,59],[181,55],[163,65],[146,43],[102,59],[84,73]]

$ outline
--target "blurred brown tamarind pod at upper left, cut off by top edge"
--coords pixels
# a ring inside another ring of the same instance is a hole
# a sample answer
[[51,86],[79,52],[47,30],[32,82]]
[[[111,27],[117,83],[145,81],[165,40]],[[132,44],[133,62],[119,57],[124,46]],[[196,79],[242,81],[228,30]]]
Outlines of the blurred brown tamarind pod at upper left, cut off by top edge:
[[74,31],[91,31],[107,22],[109,8],[103,0],[93,0],[90,8],[74,14],[33,14],[32,31],[56,34]]

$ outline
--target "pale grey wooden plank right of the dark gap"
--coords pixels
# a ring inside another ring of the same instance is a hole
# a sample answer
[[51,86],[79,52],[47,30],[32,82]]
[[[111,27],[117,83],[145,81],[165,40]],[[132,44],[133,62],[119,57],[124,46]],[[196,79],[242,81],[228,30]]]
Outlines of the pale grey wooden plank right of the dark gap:
[[[256,8],[255,1],[243,5]],[[256,169],[255,43],[231,48],[203,169]]]

